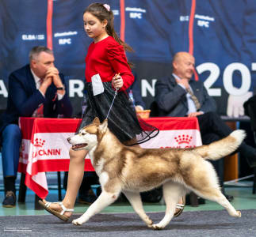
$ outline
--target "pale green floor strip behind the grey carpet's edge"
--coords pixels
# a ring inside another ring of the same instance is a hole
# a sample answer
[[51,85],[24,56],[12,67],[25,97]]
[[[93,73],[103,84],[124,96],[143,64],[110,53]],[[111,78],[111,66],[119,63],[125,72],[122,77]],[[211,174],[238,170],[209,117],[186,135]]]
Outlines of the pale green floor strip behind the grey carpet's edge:
[[[226,194],[234,196],[231,204],[235,209],[256,209],[256,194],[252,194],[252,187],[250,186],[227,186],[225,187]],[[64,194],[64,191],[63,191]],[[0,191],[1,201],[4,197],[4,192]],[[48,201],[57,201],[57,190],[49,190]],[[164,201],[159,203],[143,203],[144,209],[147,213],[165,212]],[[75,213],[84,213],[89,205],[75,205]],[[213,201],[205,201],[205,204],[192,207],[185,206],[184,212],[187,211],[208,211],[208,210],[222,210],[224,209],[219,204]],[[132,206],[128,202],[117,202],[105,208],[101,213],[133,213]],[[48,215],[44,210],[34,209],[34,194],[28,190],[25,204],[17,203],[14,208],[1,208],[0,216],[17,216],[17,215]],[[242,212],[243,215],[243,212]]]

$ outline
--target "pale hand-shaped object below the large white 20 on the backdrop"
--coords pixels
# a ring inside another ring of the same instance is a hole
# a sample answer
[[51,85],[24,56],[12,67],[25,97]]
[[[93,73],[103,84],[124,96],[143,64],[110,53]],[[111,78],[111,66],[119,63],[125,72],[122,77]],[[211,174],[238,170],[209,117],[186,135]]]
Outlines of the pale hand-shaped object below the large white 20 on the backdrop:
[[246,92],[243,96],[229,95],[227,99],[227,116],[235,118],[243,116],[243,103],[245,103],[251,96],[253,96],[253,92]]

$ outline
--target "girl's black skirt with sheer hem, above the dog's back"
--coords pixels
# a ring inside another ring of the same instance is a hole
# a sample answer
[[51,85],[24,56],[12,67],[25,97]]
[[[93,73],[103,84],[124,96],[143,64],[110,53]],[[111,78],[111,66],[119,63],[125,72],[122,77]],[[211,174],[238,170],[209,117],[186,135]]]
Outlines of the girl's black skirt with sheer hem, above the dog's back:
[[[82,115],[82,122],[78,126],[77,133],[97,117],[101,122],[108,119],[109,130],[121,142],[136,138],[136,142],[132,144],[136,145],[148,141],[159,134],[159,130],[155,126],[151,126],[144,122],[143,119],[137,118],[136,110],[132,101],[129,100],[127,92],[117,92],[117,96],[113,101],[115,90],[111,82],[103,82],[103,87],[104,92],[94,96],[92,84],[90,82],[86,83],[87,106]],[[112,103],[113,106],[111,107]],[[108,118],[107,115],[109,115]]]

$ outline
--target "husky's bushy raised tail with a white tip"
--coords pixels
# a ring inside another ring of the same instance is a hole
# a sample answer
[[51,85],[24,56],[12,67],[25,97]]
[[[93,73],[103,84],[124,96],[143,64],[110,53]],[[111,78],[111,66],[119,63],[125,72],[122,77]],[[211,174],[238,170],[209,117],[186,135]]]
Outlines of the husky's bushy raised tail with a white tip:
[[220,141],[214,141],[209,145],[196,147],[196,151],[205,160],[219,160],[220,158],[235,152],[242,143],[246,133],[244,130],[235,130]]

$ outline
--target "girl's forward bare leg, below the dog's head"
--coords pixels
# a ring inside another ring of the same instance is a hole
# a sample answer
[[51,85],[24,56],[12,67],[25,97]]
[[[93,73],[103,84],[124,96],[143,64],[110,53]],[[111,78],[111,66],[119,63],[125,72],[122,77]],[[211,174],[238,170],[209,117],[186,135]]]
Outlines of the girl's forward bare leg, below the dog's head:
[[[78,194],[79,187],[81,186],[82,177],[84,175],[85,158],[87,155],[86,150],[74,151],[70,149],[70,164],[67,179],[67,192],[63,199],[63,205],[67,209],[73,209],[75,205],[75,199]],[[61,212],[62,208],[59,204],[52,203],[51,209]],[[71,212],[65,212],[65,216],[71,216]]]

